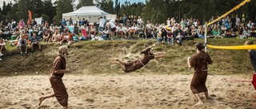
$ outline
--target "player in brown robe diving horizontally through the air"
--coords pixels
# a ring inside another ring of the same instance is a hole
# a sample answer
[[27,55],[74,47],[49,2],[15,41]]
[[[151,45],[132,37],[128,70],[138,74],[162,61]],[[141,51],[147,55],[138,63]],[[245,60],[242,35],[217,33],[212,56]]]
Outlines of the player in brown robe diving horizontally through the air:
[[145,66],[150,60],[166,56],[166,53],[152,53],[150,48],[142,50],[141,54],[144,56],[139,60],[134,60],[130,63],[122,62],[121,60],[115,59],[114,63],[118,64],[124,72],[134,72],[139,68]]

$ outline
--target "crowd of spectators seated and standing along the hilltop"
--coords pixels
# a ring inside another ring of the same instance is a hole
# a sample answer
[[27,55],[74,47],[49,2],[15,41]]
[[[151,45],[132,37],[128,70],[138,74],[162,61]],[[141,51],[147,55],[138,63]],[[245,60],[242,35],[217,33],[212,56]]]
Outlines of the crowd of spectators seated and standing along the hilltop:
[[[218,18],[218,17],[217,17]],[[86,40],[114,40],[114,39],[148,39],[152,38],[162,44],[184,45],[184,40],[194,40],[194,38],[204,38],[206,23],[214,21],[214,16],[209,21],[202,23],[196,18],[167,18],[162,23],[143,22],[141,16],[123,14],[114,21],[106,19],[105,16],[98,18],[99,22],[91,23],[85,18],[79,21],[63,18],[61,25],[48,24],[42,19],[42,24],[38,24],[34,19],[28,21],[14,20],[0,22],[0,56],[1,51],[5,49],[5,41],[10,41],[11,45],[16,45],[20,53],[27,53],[27,46],[31,46],[31,52],[34,52],[34,46],[38,46],[41,52],[40,42],[58,42],[59,45],[70,46],[77,41]],[[256,37],[256,17],[254,21],[246,22],[246,18],[238,15],[226,16],[208,26],[207,36],[213,38],[238,37],[255,38]],[[15,37],[15,39],[13,39]],[[42,41],[40,41],[42,40]],[[25,49],[25,52],[22,52]],[[0,60],[2,60],[0,58]]]

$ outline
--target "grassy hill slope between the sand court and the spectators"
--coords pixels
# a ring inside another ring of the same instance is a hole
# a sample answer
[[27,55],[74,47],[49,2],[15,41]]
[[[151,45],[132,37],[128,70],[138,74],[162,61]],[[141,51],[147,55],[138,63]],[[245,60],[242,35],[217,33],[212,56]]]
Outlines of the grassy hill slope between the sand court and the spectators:
[[[79,41],[70,46],[70,56],[66,58],[67,68],[72,72],[82,74],[125,74],[121,68],[111,62],[118,58],[124,61],[136,60],[139,52],[153,48],[153,52],[166,52],[166,58],[151,60],[138,74],[191,74],[193,68],[187,68],[186,59],[194,54],[194,44],[204,39],[184,41],[184,46],[163,45],[155,40],[114,40],[114,41]],[[208,39],[210,45],[243,45],[246,40],[236,38]],[[49,74],[56,57],[57,43],[42,43],[42,52],[38,49],[27,56],[21,56],[18,49],[6,44],[7,51],[0,62],[0,76],[40,75]],[[29,47],[30,48],[30,47]],[[252,74],[252,66],[246,50],[207,49],[213,64],[209,65],[211,75]],[[17,72],[17,74],[15,74]]]

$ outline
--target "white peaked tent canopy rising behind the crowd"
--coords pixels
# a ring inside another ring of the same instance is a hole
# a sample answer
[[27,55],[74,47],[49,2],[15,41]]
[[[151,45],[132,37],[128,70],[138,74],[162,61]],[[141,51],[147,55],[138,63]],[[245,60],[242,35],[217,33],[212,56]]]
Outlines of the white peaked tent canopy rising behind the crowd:
[[78,21],[80,18],[85,18],[90,22],[98,22],[98,17],[111,15],[103,10],[98,9],[96,6],[82,6],[78,10],[75,10],[70,13],[62,14],[62,18],[70,19],[72,18],[74,21]]

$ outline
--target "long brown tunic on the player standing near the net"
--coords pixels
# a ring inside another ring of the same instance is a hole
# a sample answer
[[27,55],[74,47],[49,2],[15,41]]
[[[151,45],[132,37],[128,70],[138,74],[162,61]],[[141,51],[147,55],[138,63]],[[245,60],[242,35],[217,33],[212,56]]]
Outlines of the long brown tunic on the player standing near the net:
[[190,89],[194,94],[208,91],[206,88],[207,64],[213,61],[208,53],[201,51],[190,58],[190,65],[194,67],[194,76],[191,80]]

